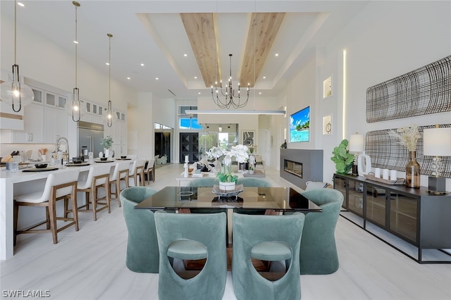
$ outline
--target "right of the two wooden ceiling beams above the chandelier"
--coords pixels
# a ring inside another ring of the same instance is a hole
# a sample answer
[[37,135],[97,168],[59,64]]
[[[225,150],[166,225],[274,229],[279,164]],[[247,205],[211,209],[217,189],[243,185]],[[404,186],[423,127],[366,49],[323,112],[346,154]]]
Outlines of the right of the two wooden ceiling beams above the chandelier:
[[240,85],[242,87],[247,86],[248,83],[254,87],[284,17],[285,13],[252,13],[241,66]]

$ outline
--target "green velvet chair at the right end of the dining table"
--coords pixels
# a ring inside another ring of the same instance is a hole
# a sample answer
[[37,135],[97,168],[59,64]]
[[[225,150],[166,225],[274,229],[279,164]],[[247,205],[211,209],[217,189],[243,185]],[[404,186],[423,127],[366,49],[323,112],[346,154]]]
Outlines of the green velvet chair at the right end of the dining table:
[[311,189],[302,192],[323,210],[307,213],[302,232],[299,257],[300,274],[325,275],[338,270],[338,252],[335,244],[335,227],[343,194],[336,189]]

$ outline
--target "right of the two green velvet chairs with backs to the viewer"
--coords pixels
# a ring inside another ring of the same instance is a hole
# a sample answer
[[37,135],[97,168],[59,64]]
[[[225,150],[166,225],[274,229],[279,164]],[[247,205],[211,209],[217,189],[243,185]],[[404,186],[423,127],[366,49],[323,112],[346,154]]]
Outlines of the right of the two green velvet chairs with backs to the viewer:
[[[237,299],[300,299],[299,246],[304,214],[243,215],[233,213],[232,282]],[[278,280],[261,276],[251,258],[285,261]]]

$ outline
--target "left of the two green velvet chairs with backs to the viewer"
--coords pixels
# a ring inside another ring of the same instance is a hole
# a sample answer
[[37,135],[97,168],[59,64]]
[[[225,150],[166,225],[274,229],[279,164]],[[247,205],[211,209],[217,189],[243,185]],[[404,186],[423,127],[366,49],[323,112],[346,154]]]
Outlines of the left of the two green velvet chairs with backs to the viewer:
[[[222,299],[226,289],[226,213],[155,213],[160,252],[159,299]],[[180,277],[171,262],[206,258],[202,270]]]

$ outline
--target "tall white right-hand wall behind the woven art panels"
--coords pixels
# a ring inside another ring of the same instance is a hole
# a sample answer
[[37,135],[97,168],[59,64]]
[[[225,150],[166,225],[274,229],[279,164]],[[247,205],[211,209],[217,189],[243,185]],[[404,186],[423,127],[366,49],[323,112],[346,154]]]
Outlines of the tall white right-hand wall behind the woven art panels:
[[[315,127],[311,128],[313,143],[300,144],[305,148],[313,146],[324,150],[325,181],[331,182],[335,164],[330,161],[330,156],[333,146],[337,146],[343,137],[348,138],[356,131],[366,134],[370,130],[397,128],[412,123],[450,123],[449,112],[378,123],[366,123],[365,115],[368,87],[450,55],[450,12],[450,1],[371,1],[325,49],[317,49],[317,57],[321,60],[315,62],[312,59],[299,70],[286,94],[280,95],[287,97],[289,112],[310,105],[312,117],[321,118],[315,120]],[[343,49],[347,51],[345,99]],[[333,76],[333,96],[323,99],[323,80],[330,75]],[[303,86],[309,78],[316,78],[316,93]],[[316,94],[316,97],[304,99],[299,94]],[[342,118],[343,112],[345,120]],[[330,113],[333,115],[333,134],[325,136],[319,124],[323,115]],[[289,144],[288,147],[295,146],[297,144]],[[427,180],[427,176],[421,176],[421,185],[427,186]],[[447,190],[450,189],[451,179],[447,179]]]

